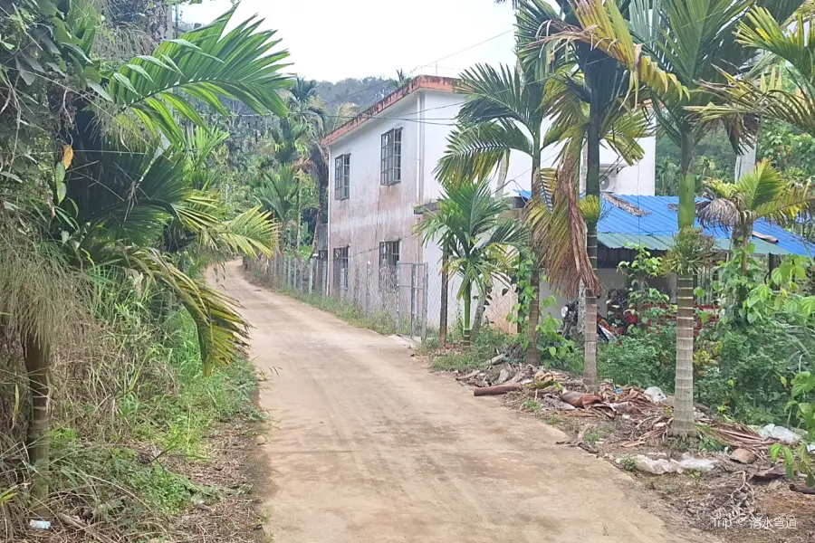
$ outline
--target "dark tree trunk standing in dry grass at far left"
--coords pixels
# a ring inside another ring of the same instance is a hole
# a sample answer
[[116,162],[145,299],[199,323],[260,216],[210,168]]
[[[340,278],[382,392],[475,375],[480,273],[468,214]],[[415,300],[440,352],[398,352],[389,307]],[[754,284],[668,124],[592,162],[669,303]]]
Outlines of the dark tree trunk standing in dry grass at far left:
[[34,467],[31,476],[31,505],[34,517],[48,516],[48,413],[50,353],[42,341],[28,335],[24,339],[25,370],[31,391],[31,420],[28,423],[26,448],[28,462]]

